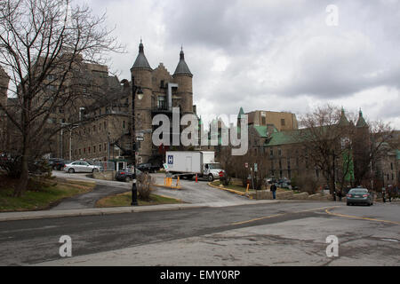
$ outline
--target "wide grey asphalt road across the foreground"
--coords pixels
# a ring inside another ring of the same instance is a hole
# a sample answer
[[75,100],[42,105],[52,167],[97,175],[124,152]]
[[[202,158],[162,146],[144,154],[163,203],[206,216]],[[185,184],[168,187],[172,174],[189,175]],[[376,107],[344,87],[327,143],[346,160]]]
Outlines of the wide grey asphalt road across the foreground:
[[[1,222],[0,264],[399,265],[398,212],[315,201]],[[73,257],[60,257],[62,235]]]

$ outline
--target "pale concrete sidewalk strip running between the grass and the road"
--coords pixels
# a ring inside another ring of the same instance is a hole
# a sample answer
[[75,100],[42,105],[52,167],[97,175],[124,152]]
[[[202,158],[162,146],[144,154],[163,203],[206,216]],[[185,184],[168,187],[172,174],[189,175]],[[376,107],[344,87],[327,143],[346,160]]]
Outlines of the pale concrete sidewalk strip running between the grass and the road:
[[252,204],[279,203],[281,201],[217,201],[196,204],[161,204],[135,207],[113,207],[113,208],[94,208],[94,209],[68,209],[68,210],[42,210],[42,211],[23,211],[23,212],[4,212],[0,213],[0,222],[31,220],[54,217],[76,217],[76,216],[96,216],[121,213],[137,213],[151,211],[168,211],[181,209],[201,209],[211,207],[228,207]]

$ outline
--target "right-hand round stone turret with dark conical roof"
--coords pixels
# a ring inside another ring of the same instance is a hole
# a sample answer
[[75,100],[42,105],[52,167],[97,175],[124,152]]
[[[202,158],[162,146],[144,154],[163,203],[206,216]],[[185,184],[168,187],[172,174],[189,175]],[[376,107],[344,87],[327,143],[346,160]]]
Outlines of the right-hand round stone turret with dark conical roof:
[[177,97],[180,99],[180,113],[193,114],[193,75],[185,62],[185,54],[180,49],[180,61],[172,75],[174,83],[178,83]]

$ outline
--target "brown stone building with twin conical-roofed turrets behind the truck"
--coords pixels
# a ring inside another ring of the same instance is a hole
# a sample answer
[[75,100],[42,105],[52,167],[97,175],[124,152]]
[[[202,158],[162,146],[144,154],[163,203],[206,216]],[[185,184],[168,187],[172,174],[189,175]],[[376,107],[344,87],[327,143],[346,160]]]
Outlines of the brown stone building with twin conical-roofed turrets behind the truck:
[[[104,67],[103,67],[104,68]],[[107,69],[104,68],[106,78]],[[172,107],[180,108],[183,114],[196,114],[193,106],[193,75],[180,51],[180,60],[173,75],[160,63],[153,69],[148,64],[144,45],[140,42],[139,53],[131,68],[131,81],[118,83],[115,78],[115,98],[84,112],[84,121],[71,123],[72,131],[63,131],[62,157],[72,160],[86,159],[98,161],[132,161],[132,90],[135,94],[135,137],[137,162],[162,162],[164,151],[152,143],[152,126],[156,114],[165,114],[172,119]],[[108,78],[110,80],[110,78]],[[138,90],[143,93],[139,99]],[[171,123],[172,125],[172,123]],[[170,131],[172,136],[172,130]],[[69,144],[70,143],[70,144]],[[69,153],[70,151],[70,153]]]

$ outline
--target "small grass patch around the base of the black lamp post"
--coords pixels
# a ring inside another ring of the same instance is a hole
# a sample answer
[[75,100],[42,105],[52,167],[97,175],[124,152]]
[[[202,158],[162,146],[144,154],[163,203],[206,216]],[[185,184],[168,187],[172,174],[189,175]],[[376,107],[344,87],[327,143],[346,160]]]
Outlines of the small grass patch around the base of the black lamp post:
[[[120,207],[131,206],[132,192],[120,193],[100,199],[96,202],[96,207]],[[150,193],[150,201],[142,201],[138,198],[139,205],[158,205],[158,204],[175,204],[184,203],[183,201]]]

